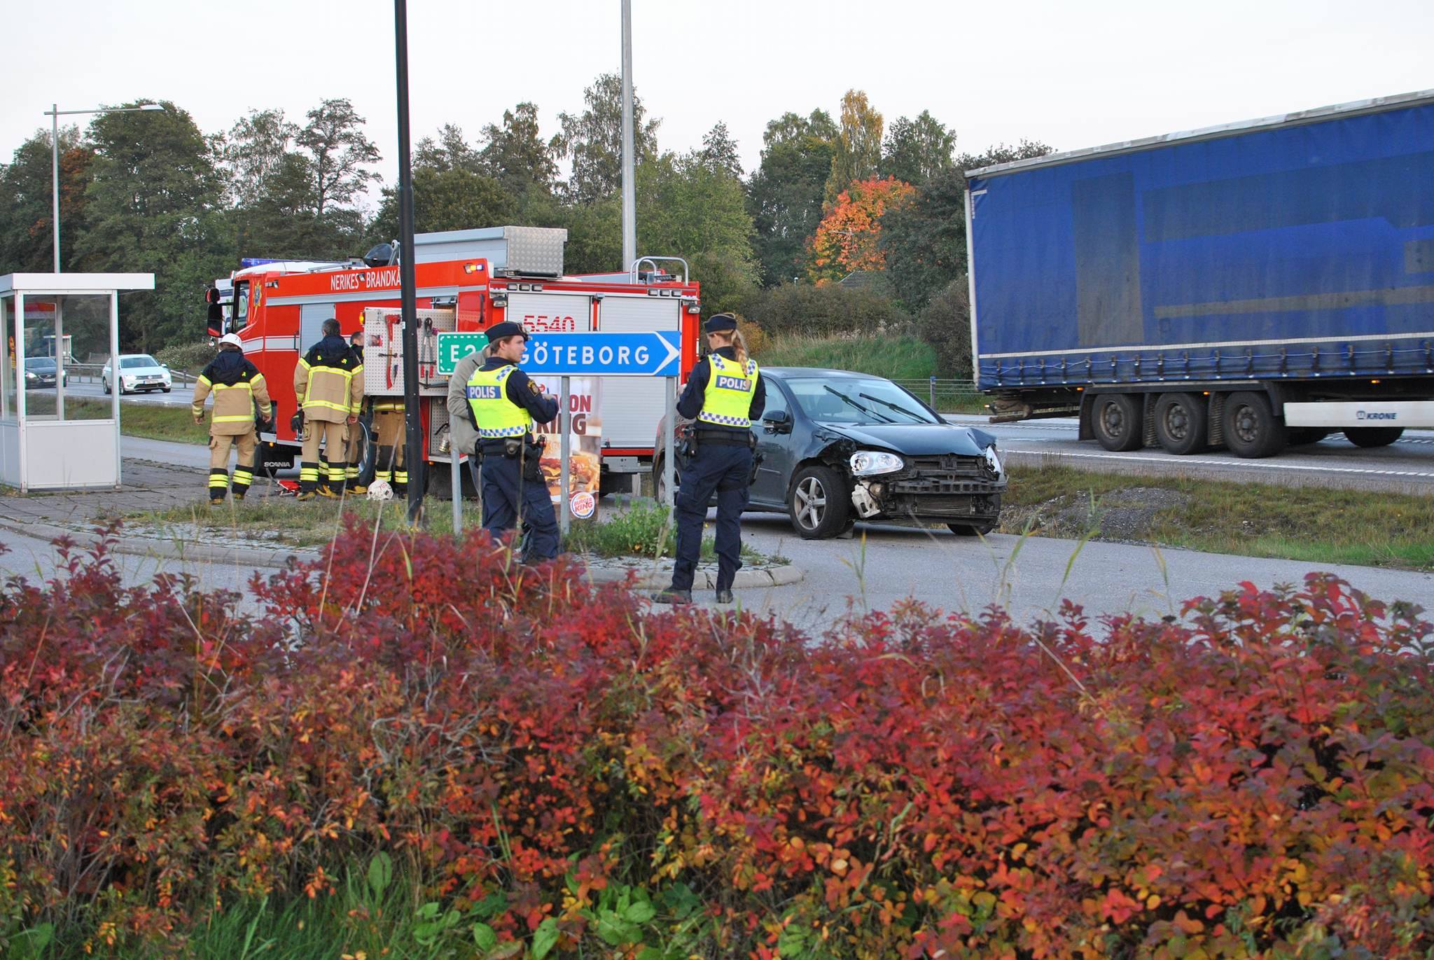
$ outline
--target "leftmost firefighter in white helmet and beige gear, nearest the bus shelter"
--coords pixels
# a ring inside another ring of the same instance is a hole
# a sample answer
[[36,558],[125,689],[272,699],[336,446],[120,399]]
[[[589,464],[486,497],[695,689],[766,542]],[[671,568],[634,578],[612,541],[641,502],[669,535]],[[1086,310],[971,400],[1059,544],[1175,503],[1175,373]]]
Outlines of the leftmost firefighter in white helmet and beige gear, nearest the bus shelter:
[[[272,420],[274,406],[270,402],[264,375],[244,359],[244,342],[238,334],[227,333],[219,340],[219,353],[204,367],[194,385],[195,423],[204,423],[204,402],[214,393],[214,413],[209,419],[209,507],[224,502],[227,491],[235,501],[242,501],[254,482],[258,430],[254,422],[254,405],[258,403],[260,419]],[[234,479],[229,481],[229,448],[238,448],[234,463]]]

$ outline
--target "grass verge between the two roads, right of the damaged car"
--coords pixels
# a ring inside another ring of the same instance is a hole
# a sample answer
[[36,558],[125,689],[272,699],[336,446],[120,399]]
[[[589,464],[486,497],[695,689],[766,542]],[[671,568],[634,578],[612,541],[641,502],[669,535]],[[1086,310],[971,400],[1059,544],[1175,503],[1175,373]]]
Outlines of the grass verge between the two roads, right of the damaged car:
[[1434,570],[1434,498],[1014,468],[1001,532]]

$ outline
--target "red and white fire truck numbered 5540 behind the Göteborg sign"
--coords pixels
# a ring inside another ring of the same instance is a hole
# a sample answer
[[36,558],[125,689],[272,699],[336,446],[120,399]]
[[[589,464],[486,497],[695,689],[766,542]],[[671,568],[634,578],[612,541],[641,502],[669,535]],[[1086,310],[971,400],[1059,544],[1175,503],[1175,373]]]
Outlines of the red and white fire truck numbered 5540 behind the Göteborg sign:
[[[698,286],[678,258],[644,257],[630,273],[569,277],[562,273],[565,230],[493,227],[419,234],[414,274],[419,307],[419,393],[423,458],[449,463],[447,377],[437,369],[437,334],[480,333],[502,320],[533,331],[681,331],[681,379],[697,360]],[[264,433],[260,468],[293,466],[300,441],[294,366],[318,342],[324,320],[348,337],[364,331],[364,396],[403,396],[403,342],[397,244],[380,244],[363,260],[254,261],[208,290],[211,336],[237,333],[244,354],[268,380],[277,405],[275,432]],[[681,263],[681,276],[658,263]],[[640,267],[647,270],[640,270]],[[605,377],[601,389],[602,488],[625,489],[651,469],[652,438],[664,410],[658,377]],[[367,403],[366,403],[367,406]],[[367,410],[360,418],[367,429]],[[373,449],[373,443],[367,445]],[[363,479],[373,469],[364,455]],[[429,471],[439,482],[449,471]]]

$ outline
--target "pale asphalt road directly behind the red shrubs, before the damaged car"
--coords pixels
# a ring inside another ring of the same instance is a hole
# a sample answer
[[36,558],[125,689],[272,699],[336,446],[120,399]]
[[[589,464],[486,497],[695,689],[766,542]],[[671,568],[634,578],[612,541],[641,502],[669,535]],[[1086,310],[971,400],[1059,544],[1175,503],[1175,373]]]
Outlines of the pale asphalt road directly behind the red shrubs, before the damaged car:
[[[163,441],[123,438],[126,458],[204,468],[204,448]],[[1147,616],[1179,613],[1184,600],[1216,596],[1250,580],[1259,587],[1298,584],[1305,574],[1328,570],[1382,600],[1410,600],[1434,608],[1434,574],[1369,567],[1315,564],[1159,551],[1129,544],[1088,542],[994,534],[985,540],[945,531],[859,524],[852,540],[804,541],[784,517],[747,514],[743,535],[757,550],[790,557],[806,578],[789,587],[741,590],[747,610],[771,613],[813,633],[826,630],[850,611],[889,610],[915,598],[946,611],[979,613],[988,604],[1007,606],[1018,621],[1050,616],[1061,600],[1081,604],[1091,616],[1134,611]],[[0,570],[53,574],[49,545],[4,534],[14,552],[0,555]],[[16,541],[16,542],[10,542]],[[176,561],[125,557],[119,561],[129,583],[143,583],[156,571],[186,568],[212,587],[242,588],[248,570],[222,564],[184,565]],[[710,603],[710,593],[697,598]]]

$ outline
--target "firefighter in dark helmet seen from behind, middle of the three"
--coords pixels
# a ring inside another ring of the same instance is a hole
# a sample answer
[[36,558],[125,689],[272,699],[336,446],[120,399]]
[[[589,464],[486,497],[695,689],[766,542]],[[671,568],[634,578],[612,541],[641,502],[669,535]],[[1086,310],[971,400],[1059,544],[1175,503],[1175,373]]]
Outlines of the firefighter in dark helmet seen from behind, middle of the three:
[[[294,396],[304,413],[304,451],[298,468],[298,499],[341,497],[347,476],[347,426],[358,423],[363,405],[363,360],[338,336],[338,321],[324,320],[324,339],[294,367]],[[318,445],[324,445],[320,476]]]

